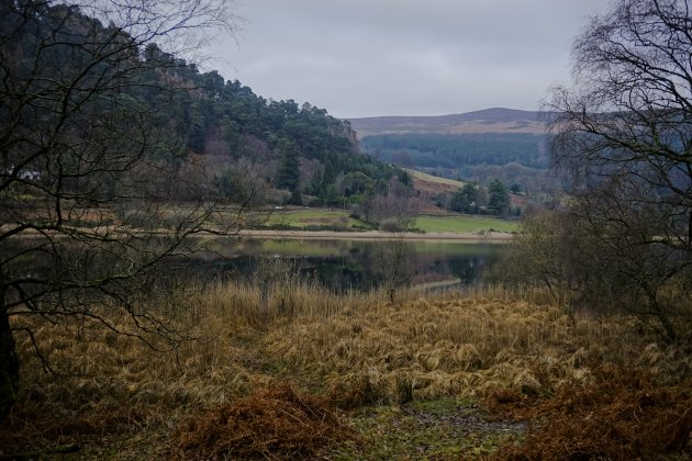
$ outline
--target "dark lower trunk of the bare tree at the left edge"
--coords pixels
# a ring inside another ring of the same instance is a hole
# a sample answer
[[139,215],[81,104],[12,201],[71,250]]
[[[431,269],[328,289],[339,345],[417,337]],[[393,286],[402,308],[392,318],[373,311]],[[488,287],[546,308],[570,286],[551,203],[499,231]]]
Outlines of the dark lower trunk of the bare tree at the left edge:
[[[0,296],[0,302],[3,300],[4,296]],[[2,307],[0,311],[0,421],[10,415],[16,403],[18,391],[19,359],[10,329],[10,318]]]

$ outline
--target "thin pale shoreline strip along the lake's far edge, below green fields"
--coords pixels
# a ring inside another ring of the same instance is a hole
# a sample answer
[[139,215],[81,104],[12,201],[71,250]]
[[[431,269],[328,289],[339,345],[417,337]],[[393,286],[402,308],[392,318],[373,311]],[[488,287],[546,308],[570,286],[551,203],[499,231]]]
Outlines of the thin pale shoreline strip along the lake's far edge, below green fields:
[[345,240],[464,240],[464,241],[509,241],[514,234],[504,232],[485,233],[391,233],[382,231],[364,232],[334,232],[334,231],[252,231],[244,229],[238,233],[246,238],[294,238],[294,239],[345,239]]

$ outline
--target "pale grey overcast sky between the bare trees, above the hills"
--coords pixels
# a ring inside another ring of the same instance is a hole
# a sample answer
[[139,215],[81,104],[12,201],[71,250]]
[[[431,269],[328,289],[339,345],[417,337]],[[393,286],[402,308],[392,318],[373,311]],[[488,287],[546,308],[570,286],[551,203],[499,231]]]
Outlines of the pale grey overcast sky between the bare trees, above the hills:
[[606,0],[243,0],[208,67],[337,117],[536,110]]

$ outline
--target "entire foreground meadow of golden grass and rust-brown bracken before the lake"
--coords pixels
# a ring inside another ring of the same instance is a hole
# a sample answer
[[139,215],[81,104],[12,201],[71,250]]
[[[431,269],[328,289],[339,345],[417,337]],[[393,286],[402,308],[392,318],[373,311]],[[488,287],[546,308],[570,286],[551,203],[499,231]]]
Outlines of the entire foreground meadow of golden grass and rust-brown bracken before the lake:
[[[0,426],[0,456],[692,453],[689,349],[662,346],[629,317],[570,313],[542,291],[400,292],[391,302],[389,293],[337,296],[287,278],[267,291],[180,286],[147,307],[182,340],[145,336],[156,351],[86,318],[43,324],[35,344],[18,333],[22,391]],[[94,310],[109,316],[108,306]],[[141,334],[132,318],[110,319]],[[31,319],[14,326],[23,322]]]

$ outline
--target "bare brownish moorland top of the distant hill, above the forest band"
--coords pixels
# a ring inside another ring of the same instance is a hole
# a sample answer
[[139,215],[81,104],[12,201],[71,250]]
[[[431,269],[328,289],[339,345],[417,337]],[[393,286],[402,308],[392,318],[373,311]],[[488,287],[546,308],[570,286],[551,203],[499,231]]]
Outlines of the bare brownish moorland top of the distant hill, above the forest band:
[[504,108],[438,116],[373,116],[349,122],[360,139],[378,134],[543,134],[546,130],[538,112]]

